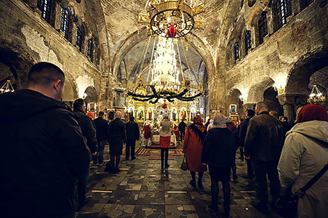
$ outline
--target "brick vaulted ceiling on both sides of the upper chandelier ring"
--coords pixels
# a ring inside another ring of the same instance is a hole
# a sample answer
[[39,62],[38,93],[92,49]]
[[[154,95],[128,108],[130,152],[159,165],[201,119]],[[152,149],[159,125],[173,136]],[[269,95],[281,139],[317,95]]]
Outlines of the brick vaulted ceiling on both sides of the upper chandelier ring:
[[[208,50],[207,53],[211,54],[213,59],[216,59],[219,42],[218,36],[220,36],[222,31],[225,13],[230,1],[204,1],[204,29],[192,31],[195,37],[201,40],[202,44],[204,45],[203,47],[206,47]],[[120,52],[120,49],[123,47],[122,45],[124,45],[126,40],[132,38],[137,33],[137,15],[144,8],[146,2],[146,0],[100,0],[100,5],[103,8],[108,36],[110,38],[110,56],[112,59],[115,59],[115,56]],[[145,33],[143,32],[140,34]],[[138,39],[137,37],[135,38],[136,40]],[[130,42],[131,47],[128,48],[128,51],[123,52],[124,56],[128,54],[128,56],[125,57],[125,61],[128,59],[131,60],[132,56],[140,55],[140,47],[143,45],[142,43],[137,45],[139,42],[140,41]],[[133,49],[135,49],[135,52]],[[193,59],[193,57],[195,57],[193,60],[197,62],[197,64],[200,63],[200,56],[196,55],[197,53],[200,53],[199,48],[195,47],[194,49],[191,49],[190,53],[191,58]],[[123,59],[120,59],[119,61],[123,61]],[[131,65],[135,65],[135,63],[131,63]],[[116,69],[113,71],[114,73],[117,72]]]

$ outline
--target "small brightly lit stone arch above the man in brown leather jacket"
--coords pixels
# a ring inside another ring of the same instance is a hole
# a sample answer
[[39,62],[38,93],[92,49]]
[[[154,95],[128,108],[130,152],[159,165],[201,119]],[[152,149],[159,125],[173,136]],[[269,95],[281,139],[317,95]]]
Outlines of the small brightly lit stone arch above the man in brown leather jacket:
[[249,88],[247,102],[262,102],[264,91],[273,85],[274,80],[271,77],[259,78],[258,83],[252,84],[251,88]]

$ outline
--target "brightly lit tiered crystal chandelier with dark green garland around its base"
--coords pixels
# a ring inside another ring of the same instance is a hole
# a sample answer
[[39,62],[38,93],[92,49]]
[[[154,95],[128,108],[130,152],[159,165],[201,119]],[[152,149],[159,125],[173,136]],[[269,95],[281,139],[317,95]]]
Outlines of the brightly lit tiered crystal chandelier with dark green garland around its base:
[[[155,44],[157,46],[155,49]],[[147,41],[149,47],[150,40]],[[177,56],[179,57],[180,69],[177,67],[177,57],[174,45],[177,48]],[[143,54],[143,59],[147,54],[147,49]],[[151,62],[146,79],[139,79],[137,83],[128,86],[127,95],[133,96],[133,100],[157,103],[160,99],[166,99],[169,102],[176,100],[193,101],[195,98],[202,95],[202,84],[199,84],[196,79],[191,81],[185,79],[184,71],[181,65],[181,56],[177,39],[172,38],[154,38],[154,46],[151,54]],[[184,52],[186,55],[186,52]],[[187,56],[185,56],[188,65]],[[142,61],[143,65],[144,60]],[[137,73],[137,78],[140,77],[142,68]],[[188,72],[191,76],[191,69],[188,65]]]

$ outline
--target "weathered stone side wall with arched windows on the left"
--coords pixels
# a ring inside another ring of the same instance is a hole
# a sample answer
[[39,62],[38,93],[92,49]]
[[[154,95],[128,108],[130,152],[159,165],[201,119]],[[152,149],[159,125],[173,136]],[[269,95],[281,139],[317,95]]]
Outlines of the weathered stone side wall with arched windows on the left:
[[[100,109],[108,107],[108,98],[106,96],[100,98],[100,89],[103,88],[101,77],[107,73],[106,70],[109,72],[109,66],[105,66],[103,58],[105,52],[99,46],[102,38],[99,36],[95,20],[92,20],[92,16],[87,15],[90,11],[87,12],[84,3],[70,2],[71,6],[76,5],[75,13],[78,13],[76,17],[80,17],[79,19],[82,20],[74,20],[72,15],[71,36],[66,40],[59,30],[61,5],[55,1],[53,3],[55,4],[56,18],[50,25],[40,16],[41,12],[36,8],[36,1],[29,1],[29,3],[18,0],[0,2],[0,49],[6,54],[13,54],[10,58],[6,59],[6,56],[2,56],[1,59],[7,60],[9,63],[15,59],[20,60],[19,63],[25,63],[24,68],[20,64],[12,63],[17,71],[17,80],[20,81],[18,88],[27,87],[27,72],[33,63],[47,61],[59,66],[66,75],[66,91],[63,100],[73,101],[80,98],[87,87],[92,86],[96,89],[98,100],[101,100],[97,102],[103,107]],[[62,3],[68,2],[63,1]],[[89,17],[90,20],[85,20],[85,17]],[[80,48],[75,45],[76,26],[82,22],[86,26],[86,34],[84,43],[82,43],[84,47],[80,52]],[[94,63],[87,57],[87,40],[91,37],[96,40]],[[108,77],[103,80],[108,81]],[[105,84],[107,83],[105,82]],[[107,93],[102,93],[102,95],[107,95]]]

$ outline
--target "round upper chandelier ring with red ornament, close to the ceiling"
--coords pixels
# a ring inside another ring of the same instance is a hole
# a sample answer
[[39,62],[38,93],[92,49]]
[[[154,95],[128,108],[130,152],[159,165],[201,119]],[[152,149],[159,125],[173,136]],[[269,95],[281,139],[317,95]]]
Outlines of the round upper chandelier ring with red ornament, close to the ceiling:
[[193,28],[203,28],[203,12],[204,0],[148,0],[138,22],[147,25],[149,35],[179,38]]

